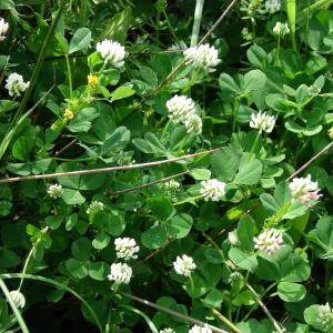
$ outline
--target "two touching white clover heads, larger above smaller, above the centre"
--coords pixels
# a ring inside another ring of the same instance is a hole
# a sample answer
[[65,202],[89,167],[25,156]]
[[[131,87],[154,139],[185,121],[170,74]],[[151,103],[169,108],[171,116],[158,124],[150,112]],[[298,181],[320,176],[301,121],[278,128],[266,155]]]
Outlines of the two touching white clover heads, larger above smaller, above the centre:
[[194,101],[185,95],[175,94],[167,101],[169,118],[173,123],[183,123],[189,132],[201,134],[202,120],[195,114]]

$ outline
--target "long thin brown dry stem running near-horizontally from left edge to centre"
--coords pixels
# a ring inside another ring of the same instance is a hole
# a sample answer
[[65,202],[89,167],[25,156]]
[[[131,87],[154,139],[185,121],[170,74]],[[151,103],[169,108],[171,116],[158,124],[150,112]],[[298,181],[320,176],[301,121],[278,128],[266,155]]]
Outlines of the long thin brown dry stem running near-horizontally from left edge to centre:
[[93,174],[93,173],[105,173],[105,172],[114,172],[114,171],[124,171],[124,170],[133,170],[133,169],[142,169],[142,168],[151,168],[151,167],[159,167],[163,164],[169,164],[178,161],[183,161],[192,158],[196,158],[203,154],[211,154],[216,151],[220,151],[223,148],[215,148],[202,152],[198,152],[194,154],[188,154],[174,159],[169,160],[160,160],[154,162],[147,162],[147,163],[139,163],[139,164],[131,164],[131,165],[121,165],[121,167],[109,167],[109,168],[100,168],[100,169],[87,169],[87,170],[75,170],[75,171],[68,171],[68,172],[56,172],[56,173],[47,173],[47,174],[37,174],[37,175],[23,175],[23,176],[13,176],[13,178],[6,178],[1,179],[0,183],[13,183],[13,182],[21,182],[21,181],[31,181],[31,180],[39,180],[39,179],[48,179],[48,178],[58,178],[58,176],[69,176],[69,175],[80,175],[80,174]]

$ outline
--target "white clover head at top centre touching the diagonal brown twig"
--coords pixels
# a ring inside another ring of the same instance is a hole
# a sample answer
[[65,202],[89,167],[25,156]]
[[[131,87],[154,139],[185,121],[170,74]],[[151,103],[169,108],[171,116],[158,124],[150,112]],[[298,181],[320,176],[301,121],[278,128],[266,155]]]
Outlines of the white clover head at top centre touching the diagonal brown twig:
[[210,44],[189,48],[184,51],[184,57],[186,64],[204,69],[208,72],[213,72],[213,68],[221,62],[218,50]]

